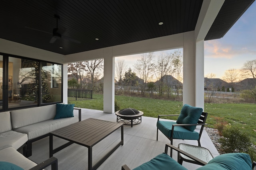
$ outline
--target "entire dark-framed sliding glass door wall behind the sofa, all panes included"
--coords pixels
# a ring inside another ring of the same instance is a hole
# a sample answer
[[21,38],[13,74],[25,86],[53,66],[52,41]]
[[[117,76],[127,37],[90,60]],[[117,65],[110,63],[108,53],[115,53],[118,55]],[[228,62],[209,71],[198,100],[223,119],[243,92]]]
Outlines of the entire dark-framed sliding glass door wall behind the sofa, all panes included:
[[0,54],[0,111],[62,102],[62,64]]

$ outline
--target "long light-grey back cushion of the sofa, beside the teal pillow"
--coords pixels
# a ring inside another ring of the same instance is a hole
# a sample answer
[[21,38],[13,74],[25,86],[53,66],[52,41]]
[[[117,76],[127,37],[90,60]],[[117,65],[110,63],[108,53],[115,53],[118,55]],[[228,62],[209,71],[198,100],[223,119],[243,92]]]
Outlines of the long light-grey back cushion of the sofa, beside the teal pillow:
[[32,125],[41,121],[53,119],[56,114],[56,104],[32,107],[10,111],[12,129]]

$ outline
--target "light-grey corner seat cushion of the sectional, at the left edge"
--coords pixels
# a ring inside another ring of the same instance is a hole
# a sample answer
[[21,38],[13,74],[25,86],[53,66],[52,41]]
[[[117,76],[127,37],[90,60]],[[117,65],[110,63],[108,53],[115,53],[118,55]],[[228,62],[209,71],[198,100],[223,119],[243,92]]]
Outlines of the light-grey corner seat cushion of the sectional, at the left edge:
[[28,141],[28,135],[15,131],[7,131],[0,133],[0,150],[8,147],[19,149]]

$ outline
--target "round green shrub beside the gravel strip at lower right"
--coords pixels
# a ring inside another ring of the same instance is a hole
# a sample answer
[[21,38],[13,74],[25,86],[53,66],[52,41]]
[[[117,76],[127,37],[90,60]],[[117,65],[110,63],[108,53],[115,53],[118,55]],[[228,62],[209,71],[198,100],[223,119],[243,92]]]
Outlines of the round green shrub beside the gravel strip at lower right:
[[223,137],[219,139],[221,149],[225,153],[243,152],[256,160],[256,152],[253,149],[252,138],[238,127],[225,127]]

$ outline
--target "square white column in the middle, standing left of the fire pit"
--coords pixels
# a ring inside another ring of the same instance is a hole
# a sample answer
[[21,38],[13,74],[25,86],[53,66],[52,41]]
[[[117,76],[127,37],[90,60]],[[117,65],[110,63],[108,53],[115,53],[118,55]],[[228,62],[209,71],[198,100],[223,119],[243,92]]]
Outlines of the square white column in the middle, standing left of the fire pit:
[[115,60],[112,47],[104,49],[104,86],[103,86],[103,111],[114,113],[115,109]]

